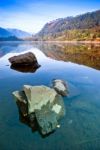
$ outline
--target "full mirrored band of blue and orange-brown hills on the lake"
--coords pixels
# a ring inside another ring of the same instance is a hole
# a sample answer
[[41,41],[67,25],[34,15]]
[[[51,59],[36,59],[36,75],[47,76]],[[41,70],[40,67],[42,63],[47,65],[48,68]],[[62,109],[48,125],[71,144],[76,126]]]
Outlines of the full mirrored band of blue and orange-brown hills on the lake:
[[38,48],[46,56],[65,62],[82,64],[100,70],[100,44],[62,44],[62,43],[8,43],[0,45],[0,57],[8,52],[24,52]]

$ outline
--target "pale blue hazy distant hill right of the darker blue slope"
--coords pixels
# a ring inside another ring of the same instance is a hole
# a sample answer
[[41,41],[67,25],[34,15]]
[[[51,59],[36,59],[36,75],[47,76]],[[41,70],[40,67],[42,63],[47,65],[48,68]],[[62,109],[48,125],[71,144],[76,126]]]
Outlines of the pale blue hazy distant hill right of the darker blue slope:
[[16,36],[17,38],[29,38],[32,37],[32,34],[26,32],[26,31],[22,31],[22,30],[18,30],[18,29],[7,29],[11,34],[13,34],[14,36]]

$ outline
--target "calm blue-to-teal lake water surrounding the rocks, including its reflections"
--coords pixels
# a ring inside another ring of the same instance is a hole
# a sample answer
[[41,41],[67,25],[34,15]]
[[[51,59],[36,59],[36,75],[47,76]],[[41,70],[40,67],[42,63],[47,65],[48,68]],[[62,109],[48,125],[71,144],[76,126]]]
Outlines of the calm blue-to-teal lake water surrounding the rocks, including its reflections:
[[[33,73],[11,69],[8,58],[28,51],[41,67]],[[24,84],[50,86],[57,78],[69,86],[66,115],[42,138],[20,121],[12,92]],[[0,43],[0,150],[100,150],[99,44]]]

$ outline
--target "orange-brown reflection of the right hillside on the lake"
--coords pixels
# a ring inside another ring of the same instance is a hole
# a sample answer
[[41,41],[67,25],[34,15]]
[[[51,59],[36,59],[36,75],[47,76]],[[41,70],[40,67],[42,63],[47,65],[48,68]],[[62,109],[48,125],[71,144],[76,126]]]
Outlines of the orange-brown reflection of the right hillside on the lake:
[[100,69],[100,45],[40,44],[38,48],[50,58]]

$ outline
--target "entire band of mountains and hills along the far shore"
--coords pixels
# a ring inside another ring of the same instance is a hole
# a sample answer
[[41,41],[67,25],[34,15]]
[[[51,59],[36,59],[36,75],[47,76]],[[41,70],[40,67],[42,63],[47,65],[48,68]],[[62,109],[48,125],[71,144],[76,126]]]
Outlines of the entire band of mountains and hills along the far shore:
[[50,21],[35,35],[19,29],[0,28],[0,40],[6,38],[33,41],[100,41],[100,10]]

